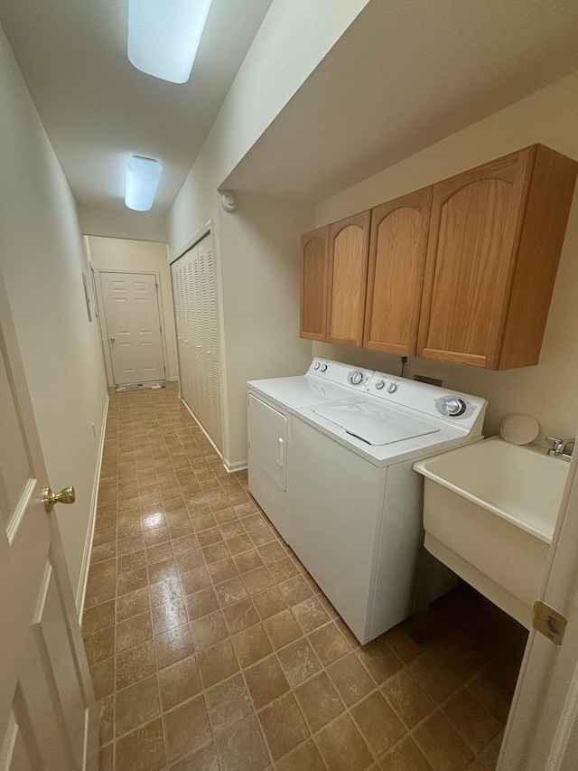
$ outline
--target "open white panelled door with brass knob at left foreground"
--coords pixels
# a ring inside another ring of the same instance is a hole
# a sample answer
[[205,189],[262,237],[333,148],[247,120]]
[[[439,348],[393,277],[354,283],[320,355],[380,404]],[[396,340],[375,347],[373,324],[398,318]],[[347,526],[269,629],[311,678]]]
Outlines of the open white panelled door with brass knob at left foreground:
[[0,437],[0,769],[96,769],[98,710],[1,275]]

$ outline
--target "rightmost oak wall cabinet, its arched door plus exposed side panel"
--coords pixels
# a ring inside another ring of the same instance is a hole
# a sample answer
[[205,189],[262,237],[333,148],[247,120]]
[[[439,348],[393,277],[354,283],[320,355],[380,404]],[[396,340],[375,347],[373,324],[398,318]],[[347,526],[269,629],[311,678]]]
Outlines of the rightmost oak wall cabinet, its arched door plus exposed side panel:
[[433,186],[418,356],[537,363],[577,166],[535,145]]

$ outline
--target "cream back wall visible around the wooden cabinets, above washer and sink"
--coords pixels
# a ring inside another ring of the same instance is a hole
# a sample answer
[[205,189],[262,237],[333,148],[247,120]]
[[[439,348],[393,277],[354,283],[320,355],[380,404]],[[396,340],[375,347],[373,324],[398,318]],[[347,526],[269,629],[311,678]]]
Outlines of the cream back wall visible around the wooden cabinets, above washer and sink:
[[[578,159],[578,73],[537,91],[405,161],[320,203],[321,226],[375,206],[500,155],[541,142]],[[492,372],[475,367],[415,359],[417,369],[447,372],[449,384],[489,400],[486,433],[495,434],[510,412],[527,412],[546,435],[573,437],[578,428],[578,195],[574,195],[554,296],[536,367]],[[531,298],[528,298],[531,302]],[[327,343],[313,353],[389,372],[398,356]]]

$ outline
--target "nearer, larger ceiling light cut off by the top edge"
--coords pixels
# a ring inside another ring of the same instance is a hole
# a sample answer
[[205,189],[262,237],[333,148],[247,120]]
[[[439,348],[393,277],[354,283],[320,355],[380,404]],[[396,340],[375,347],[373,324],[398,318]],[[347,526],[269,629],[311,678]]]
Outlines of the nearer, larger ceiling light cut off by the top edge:
[[211,0],[129,0],[128,59],[137,70],[186,83]]

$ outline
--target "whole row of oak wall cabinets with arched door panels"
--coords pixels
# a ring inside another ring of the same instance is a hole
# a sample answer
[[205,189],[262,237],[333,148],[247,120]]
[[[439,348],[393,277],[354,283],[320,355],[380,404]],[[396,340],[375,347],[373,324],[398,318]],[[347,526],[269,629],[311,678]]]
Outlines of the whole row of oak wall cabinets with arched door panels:
[[536,364],[577,170],[534,145],[303,236],[302,336]]

